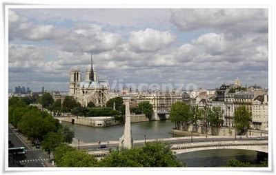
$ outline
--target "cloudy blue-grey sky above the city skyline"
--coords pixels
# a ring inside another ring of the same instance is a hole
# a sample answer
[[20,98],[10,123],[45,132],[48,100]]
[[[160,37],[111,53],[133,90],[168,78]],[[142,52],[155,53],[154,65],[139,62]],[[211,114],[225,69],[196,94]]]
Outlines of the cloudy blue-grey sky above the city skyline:
[[148,85],[268,87],[267,9],[20,9],[8,11],[9,89],[68,91],[72,69]]

